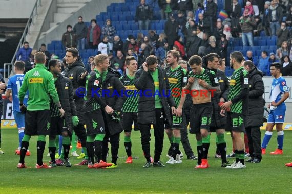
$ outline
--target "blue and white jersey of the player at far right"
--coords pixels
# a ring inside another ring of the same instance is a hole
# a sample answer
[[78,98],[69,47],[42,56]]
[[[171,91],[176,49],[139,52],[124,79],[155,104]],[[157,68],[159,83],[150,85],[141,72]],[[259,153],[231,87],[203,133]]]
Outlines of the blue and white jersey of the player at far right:
[[285,78],[281,76],[278,79],[274,78],[270,90],[270,102],[275,101],[277,103],[278,101],[280,101],[285,92],[289,92],[289,88],[286,85]]

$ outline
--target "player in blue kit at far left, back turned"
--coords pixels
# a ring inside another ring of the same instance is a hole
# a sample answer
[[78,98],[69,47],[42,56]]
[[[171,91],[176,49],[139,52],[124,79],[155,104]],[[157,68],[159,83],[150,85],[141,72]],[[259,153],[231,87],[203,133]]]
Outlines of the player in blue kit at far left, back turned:
[[[22,139],[24,137],[24,128],[25,128],[25,115],[20,112],[19,109],[19,99],[18,99],[18,91],[23,84],[24,80],[24,70],[25,70],[25,62],[24,61],[16,61],[14,63],[14,72],[15,75],[11,76],[8,79],[8,85],[5,92],[6,98],[10,98],[12,95],[12,106],[13,106],[13,115],[15,118],[15,123],[18,128],[18,137],[19,137],[19,146],[18,149],[15,150],[15,154],[20,155],[20,146],[22,143]],[[28,100],[28,92],[25,95],[23,104],[26,106]],[[26,152],[26,156],[30,156],[30,152]]]

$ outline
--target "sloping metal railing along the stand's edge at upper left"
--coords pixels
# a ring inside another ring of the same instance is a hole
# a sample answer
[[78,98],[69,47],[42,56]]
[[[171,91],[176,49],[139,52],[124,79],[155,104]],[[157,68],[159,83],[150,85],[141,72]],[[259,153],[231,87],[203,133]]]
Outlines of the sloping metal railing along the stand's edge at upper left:
[[[29,16],[29,19],[28,19],[28,21],[26,23],[26,27],[24,29],[23,35],[19,40],[19,43],[18,43],[18,45],[16,47],[16,51],[15,51],[15,53],[13,55],[13,58],[12,58],[11,62],[10,63],[4,63],[4,73],[3,73],[4,74],[3,75],[4,78],[6,78],[6,69],[8,69],[8,77],[9,77],[10,69],[12,68],[14,62],[16,61],[16,54],[17,54],[19,48],[22,47],[23,43],[26,41],[26,36],[28,34],[30,34],[30,26],[34,25],[35,16],[37,16],[37,14],[38,14],[37,8],[40,7],[40,6],[41,6],[41,0],[36,0],[35,4],[33,6],[32,12],[31,12],[31,14]],[[13,68],[12,68],[12,72],[14,73],[14,69]]]

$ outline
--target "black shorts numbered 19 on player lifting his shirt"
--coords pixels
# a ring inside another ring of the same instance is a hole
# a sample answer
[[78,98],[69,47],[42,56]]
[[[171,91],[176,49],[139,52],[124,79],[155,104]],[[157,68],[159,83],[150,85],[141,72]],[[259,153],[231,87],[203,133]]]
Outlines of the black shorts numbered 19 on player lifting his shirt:
[[201,133],[200,129],[209,130],[212,113],[211,103],[193,104],[190,113],[190,133]]

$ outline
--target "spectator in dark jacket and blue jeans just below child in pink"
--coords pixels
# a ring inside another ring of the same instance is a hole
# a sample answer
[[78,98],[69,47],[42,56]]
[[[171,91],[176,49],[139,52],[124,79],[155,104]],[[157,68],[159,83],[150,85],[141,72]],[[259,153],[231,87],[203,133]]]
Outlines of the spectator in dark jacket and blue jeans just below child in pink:
[[249,10],[245,9],[243,16],[239,18],[240,26],[242,31],[242,44],[247,46],[246,39],[248,40],[249,46],[254,46],[253,30],[256,27],[255,17],[249,15]]

